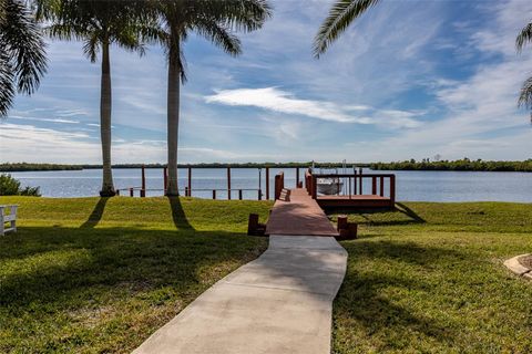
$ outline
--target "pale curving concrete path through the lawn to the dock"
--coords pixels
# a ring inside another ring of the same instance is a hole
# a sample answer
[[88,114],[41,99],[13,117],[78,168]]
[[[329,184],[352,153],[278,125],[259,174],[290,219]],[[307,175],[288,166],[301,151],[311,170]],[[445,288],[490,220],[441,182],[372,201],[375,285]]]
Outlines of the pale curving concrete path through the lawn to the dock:
[[332,237],[270,236],[133,353],[330,353],[332,300],[347,252]]

